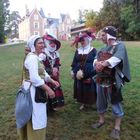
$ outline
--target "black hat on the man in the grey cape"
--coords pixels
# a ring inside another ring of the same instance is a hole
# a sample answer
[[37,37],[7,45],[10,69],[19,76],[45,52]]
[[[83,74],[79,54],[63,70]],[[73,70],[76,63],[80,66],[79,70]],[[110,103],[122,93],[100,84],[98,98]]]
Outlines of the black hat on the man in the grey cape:
[[106,26],[103,28],[102,31],[105,33],[108,33],[109,35],[111,35],[113,37],[116,37],[116,35],[117,35],[117,29],[113,26]]

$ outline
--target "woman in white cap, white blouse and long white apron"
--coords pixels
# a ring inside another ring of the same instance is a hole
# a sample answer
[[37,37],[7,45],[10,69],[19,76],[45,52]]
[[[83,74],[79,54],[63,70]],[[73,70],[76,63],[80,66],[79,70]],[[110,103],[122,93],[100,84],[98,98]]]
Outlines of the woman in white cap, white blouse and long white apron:
[[24,60],[24,75],[23,86],[25,89],[29,88],[33,105],[33,112],[31,119],[23,128],[18,129],[19,140],[46,140],[47,127],[47,112],[46,103],[37,103],[36,87],[41,88],[50,97],[54,98],[54,91],[45,84],[45,81],[51,82],[56,87],[59,86],[57,81],[54,81],[48,73],[46,73],[43,64],[39,61],[39,54],[44,49],[44,41],[38,35],[33,35],[27,42],[27,47],[30,52]]

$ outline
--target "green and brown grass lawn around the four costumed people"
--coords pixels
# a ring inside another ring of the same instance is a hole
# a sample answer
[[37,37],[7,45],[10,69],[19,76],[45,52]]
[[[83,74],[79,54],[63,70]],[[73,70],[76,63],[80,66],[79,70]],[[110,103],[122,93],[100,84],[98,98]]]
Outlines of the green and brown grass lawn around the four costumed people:
[[[132,80],[123,89],[125,116],[122,121],[122,140],[139,140],[140,137],[140,42],[125,42],[128,50]],[[99,49],[101,43],[94,42]],[[48,140],[109,140],[114,119],[111,108],[106,114],[106,124],[93,130],[91,124],[98,119],[95,106],[80,112],[73,99],[73,80],[70,65],[75,48],[62,42],[61,83],[65,96],[65,107],[48,117]],[[14,104],[16,91],[21,83],[24,44],[0,47],[0,140],[16,140]]]

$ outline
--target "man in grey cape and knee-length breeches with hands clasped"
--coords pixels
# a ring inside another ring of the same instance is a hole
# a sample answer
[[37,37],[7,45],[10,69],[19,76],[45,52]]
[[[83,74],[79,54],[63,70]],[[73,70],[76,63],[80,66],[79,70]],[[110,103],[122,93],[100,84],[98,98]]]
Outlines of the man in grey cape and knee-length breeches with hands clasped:
[[125,82],[130,81],[130,68],[125,45],[117,41],[116,34],[117,29],[113,26],[102,29],[101,39],[105,47],[97,53],[97,59],[93,63],[93,67],[97,71],[94,80],[97,85],[96,105],[99,121],[92,127],[100,128],[104,125],[104,115],[110,102],[115,117],[115,126],[110,136],[120,139],[120,125],[124,116],[121,89]]

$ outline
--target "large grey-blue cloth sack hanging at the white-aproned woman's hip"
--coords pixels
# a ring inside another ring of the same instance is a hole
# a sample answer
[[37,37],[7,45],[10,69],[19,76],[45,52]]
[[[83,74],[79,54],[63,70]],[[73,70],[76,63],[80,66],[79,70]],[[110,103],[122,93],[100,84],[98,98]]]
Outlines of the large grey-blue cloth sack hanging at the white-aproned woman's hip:
[[[31,85],[30,85],[31,86]],[[22,128],[31,119],[33,111],[30,87],[25,90],[21,86],[16,95],[15,117],[17,128]]]

